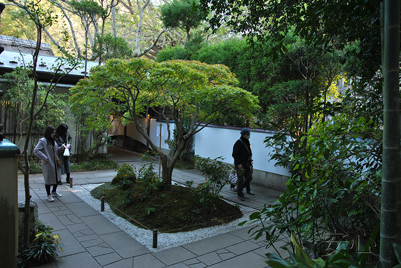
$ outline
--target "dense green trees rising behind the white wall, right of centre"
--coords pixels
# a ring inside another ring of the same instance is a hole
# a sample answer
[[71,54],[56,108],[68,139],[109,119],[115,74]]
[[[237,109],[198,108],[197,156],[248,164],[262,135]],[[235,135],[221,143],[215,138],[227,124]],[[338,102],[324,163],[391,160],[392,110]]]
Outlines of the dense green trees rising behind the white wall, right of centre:
[[[234,72],[239,86],[258,95],[260,109],[256,124],[268,126],[274,122],[280,128],[292,122],[303,125],[305,114],[301,108],[313,106],[321,98],[324,102],[336,95],[333,83],[342,78],[342,54],[338,51],[315,50],[304,40],[288,36],[287,52],[278,55],[275,62],[269,60],[274,47],[270,39],[251,46],[246,39],[229,39],[217,44],[185,43],[184,47],[166,49],[157,60],[174,58],[192,59],[208,64],[224,64]],[[329,90],[330,89],[330,90]],[[220,124],[246,125],[244,118],[236,116],[241,107],[222,112]],[[317,120],[321,114],[311,114]]]

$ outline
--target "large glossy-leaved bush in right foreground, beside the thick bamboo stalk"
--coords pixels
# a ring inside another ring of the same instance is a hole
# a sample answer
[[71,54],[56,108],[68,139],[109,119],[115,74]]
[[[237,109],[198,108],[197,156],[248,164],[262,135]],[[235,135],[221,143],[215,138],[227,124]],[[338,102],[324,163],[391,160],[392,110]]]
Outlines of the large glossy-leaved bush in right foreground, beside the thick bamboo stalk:
[[265,233],[269,245],[283,239],[289,245],[286,237],[294,231],[319,256],[333,238],[323,234],[352,240],[379,222],[381,131],[369,116],[354,114],[349,97],[331,105],[330,120],[306,133],[290,126],[266,138],[276,150],[272,159],[292,170],[277,203],[251,215],[262,224],[255,233]]

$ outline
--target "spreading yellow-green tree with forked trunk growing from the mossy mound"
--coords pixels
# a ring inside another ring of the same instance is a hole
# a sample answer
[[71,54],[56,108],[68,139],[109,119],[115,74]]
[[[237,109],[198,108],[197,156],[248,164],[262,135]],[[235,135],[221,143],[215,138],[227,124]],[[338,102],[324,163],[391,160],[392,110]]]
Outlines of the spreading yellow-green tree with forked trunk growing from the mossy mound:
[[[231,107],[242,107],[238,116],[252,119],[252,112],[258,107],[257,97],[236,87],[237,83],[233,73],[224,65],[182,60],[158,63],[146,58],[133,58],[128,61],[113,59],[97,66],[91,70],[87,80],[77,83],[74,90],[93,90],[101,96],[93,107],[108,103],[114,114],[126,122],[133,122],[136,130],[160,156],[163,182],[170,185],[174,165],[192,135]],[[166,121],[169,162],[167,154],[147,134],[150,120],[146,126],[139,122],[151,109]],[[189,121],[188,126],[184,126],[184,120]],[[176,146],[172,142],[172,121],[179,141]]]

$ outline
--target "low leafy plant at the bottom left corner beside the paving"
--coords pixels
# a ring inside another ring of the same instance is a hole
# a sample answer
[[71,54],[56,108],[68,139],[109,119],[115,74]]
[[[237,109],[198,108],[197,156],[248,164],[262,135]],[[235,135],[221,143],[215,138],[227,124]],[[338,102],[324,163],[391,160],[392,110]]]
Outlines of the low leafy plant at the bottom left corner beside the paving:
[[53,227],[46,226],[41,220],[38,224],[38,233],[35,240],[28,246],[19,247],[18,266],[31,267],[50,262],[54,256],[58,256],[57,250],[62,249],[60,236],[53,234]]

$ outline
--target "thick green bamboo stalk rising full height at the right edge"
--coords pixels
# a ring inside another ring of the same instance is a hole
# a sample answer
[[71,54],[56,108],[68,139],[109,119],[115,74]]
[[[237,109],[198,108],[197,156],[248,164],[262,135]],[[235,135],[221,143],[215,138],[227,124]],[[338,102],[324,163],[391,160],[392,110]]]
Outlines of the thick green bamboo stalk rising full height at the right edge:
[[[399,243],[397,208],[400,178],[399,151],[399,11],[400,0],[384,1],[383,166],[381,182],[380,262],[392,266],[392,243]],[[398,213],[399,214],[399,213]]]

